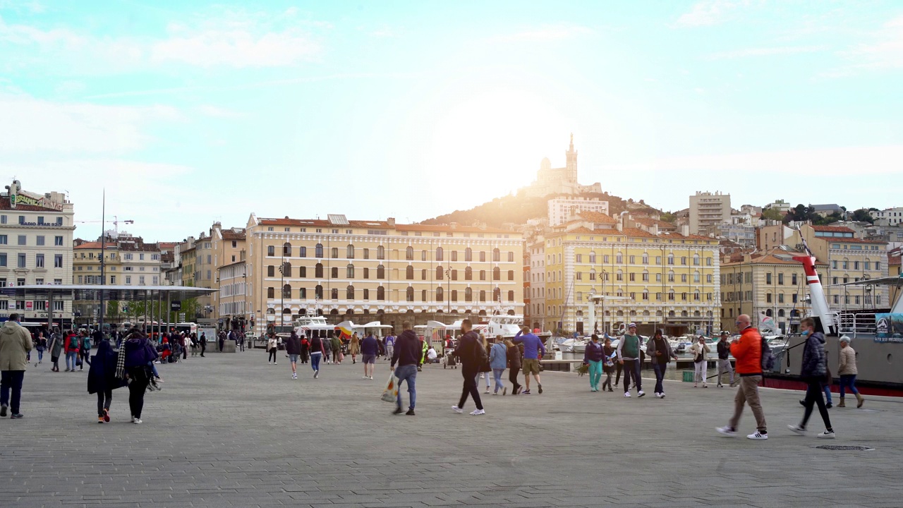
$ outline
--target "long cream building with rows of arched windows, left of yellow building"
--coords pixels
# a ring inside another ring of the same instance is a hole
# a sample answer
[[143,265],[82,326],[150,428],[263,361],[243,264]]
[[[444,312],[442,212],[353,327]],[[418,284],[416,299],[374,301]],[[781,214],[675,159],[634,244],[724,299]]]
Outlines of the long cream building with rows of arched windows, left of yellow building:
[[256,333],[314,313],[397,328],[403,319],[524,312],[517,231],[252,214],[246,235]]

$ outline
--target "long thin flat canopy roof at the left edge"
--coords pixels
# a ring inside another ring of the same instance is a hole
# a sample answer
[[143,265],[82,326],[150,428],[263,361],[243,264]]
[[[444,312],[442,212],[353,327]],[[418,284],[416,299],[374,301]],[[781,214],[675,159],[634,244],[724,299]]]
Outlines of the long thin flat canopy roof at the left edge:
[[0,287],[0,295],[21,300],[74,299],[104,300],[120,302],[155,300],[169,297],[172,300],[183,300],[198,296],[207,296],[219,291],[207,287],[188,286],[97,286],[97,285],[27,285]]

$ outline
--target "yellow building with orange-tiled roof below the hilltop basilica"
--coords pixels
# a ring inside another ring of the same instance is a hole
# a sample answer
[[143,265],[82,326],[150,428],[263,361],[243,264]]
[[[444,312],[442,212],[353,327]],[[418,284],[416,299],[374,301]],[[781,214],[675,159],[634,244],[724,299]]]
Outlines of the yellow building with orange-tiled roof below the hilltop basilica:
[[[717,325],[716,239],[654,233],[632,227],[627,217],[584,213],[555,228],[544,248],[547,330],[618,333],[633,322],[641,334],[656,328],[683,334]],[[600,306],[591,296],[603,296]],[[589,322],[589,306],[596,323]]]

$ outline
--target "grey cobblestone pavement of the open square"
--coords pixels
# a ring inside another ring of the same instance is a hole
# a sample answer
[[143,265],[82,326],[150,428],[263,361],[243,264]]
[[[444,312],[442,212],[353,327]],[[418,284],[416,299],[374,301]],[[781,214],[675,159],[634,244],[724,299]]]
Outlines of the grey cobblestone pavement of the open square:
[[[385,362],[373,381],[350,359],[318,380],[299,365],[293,381],[279,356],[161,366],[143,425],[128,423],[126,389],[100,425],[87,371],[32,368],[25,418],[0,420],[0,506],[903,506],[900,400],[831,409],[838,438],[825,442],[817,411],[813,436],[787,430],[800,393],[763,390],[770,438],[750,441],[714,432],[729,389],[667,381],[666,400],[625,399],[549,372],[544,394],[486,395],[487,414],[472,417],[450,409],[461,371],[432,365],[417,376],[416,416],[392,416],[379,400]],[[753,430],[747,409],[740,432]]]

